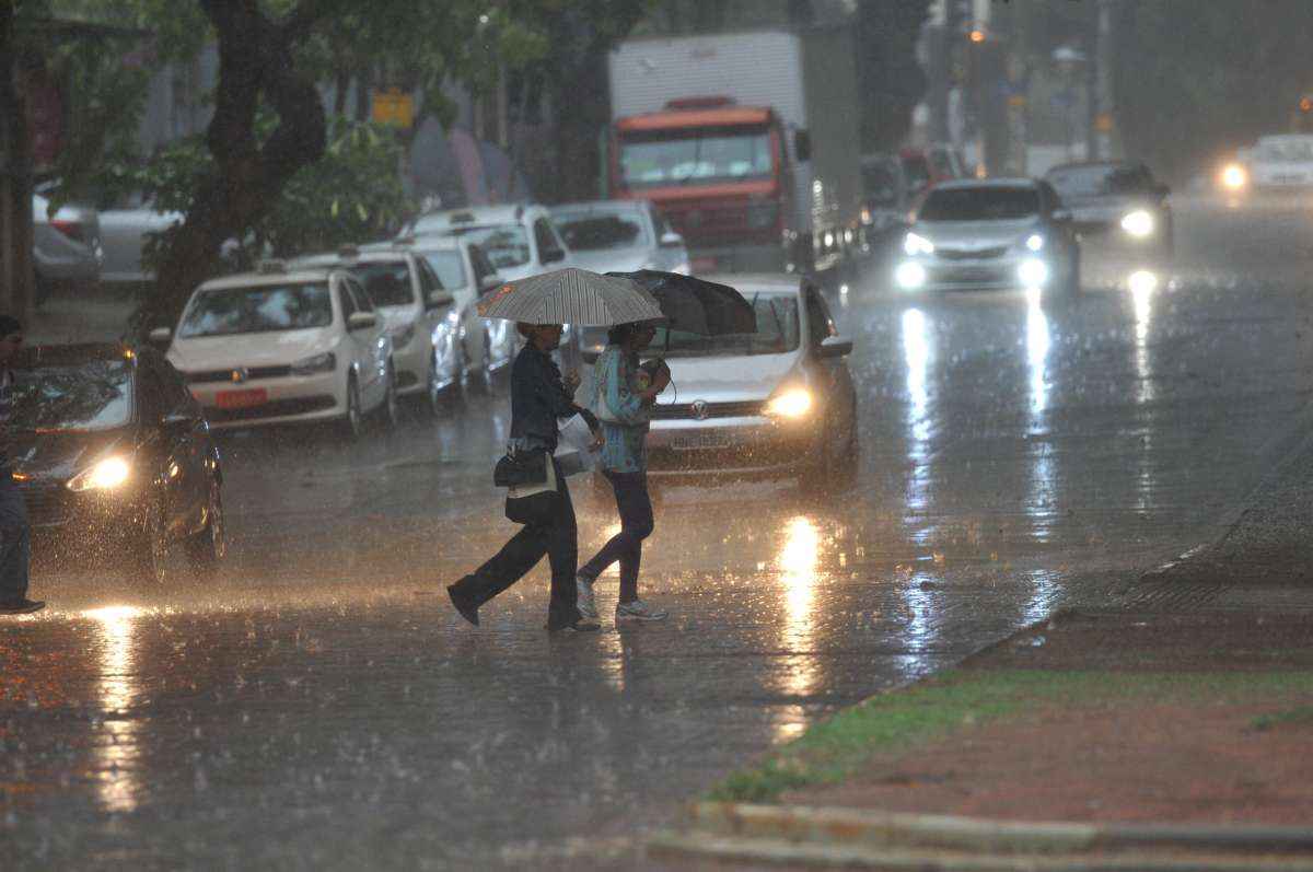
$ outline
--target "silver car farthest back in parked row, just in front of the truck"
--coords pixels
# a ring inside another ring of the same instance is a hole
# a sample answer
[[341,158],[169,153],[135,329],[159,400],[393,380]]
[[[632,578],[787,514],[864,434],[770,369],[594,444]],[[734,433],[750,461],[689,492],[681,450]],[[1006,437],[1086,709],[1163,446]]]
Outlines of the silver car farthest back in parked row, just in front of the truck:
[[551,207],[575,265],[592,272],[688,273],[688,247],[646,200],[599,200]]

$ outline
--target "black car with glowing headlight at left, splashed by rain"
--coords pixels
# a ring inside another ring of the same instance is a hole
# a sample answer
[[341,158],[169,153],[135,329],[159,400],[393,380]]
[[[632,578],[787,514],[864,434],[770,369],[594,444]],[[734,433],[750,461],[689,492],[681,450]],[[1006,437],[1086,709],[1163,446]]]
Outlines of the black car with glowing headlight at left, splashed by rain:
[[219,452],[152,348],[35,345],[13,362],[11,458],[38,541],[164,580],[181,544],[214,573],[226,540]]

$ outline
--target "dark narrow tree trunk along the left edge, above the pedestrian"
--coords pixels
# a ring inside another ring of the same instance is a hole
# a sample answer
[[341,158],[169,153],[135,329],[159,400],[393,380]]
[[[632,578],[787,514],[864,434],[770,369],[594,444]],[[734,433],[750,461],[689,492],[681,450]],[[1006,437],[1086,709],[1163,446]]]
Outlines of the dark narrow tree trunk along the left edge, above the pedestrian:
[[28,101],[16,84],[13,4],[0,4],[0,311],[28,323],[32,313],[32,134]]

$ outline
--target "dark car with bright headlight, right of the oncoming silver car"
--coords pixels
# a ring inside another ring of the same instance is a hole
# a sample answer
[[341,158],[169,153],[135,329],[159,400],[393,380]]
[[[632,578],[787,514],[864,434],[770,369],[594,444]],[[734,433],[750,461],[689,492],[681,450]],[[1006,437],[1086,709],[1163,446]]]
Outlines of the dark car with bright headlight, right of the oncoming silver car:
[[1145,164],[1133,160],[1060,164],[1044,180],[1071,211],[1078,232],[1107,234],[1115,242],[1171,252],[1170,189]]

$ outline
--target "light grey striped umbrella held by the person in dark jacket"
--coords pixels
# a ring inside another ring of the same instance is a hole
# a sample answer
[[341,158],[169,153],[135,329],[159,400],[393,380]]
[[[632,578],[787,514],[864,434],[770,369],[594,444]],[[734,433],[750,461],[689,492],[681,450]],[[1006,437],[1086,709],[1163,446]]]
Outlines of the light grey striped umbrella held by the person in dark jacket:
[[479,298],[478,310],[484,318],[579,327],[663,318],[656,298],[637,282],[575,268],[494,288]]

